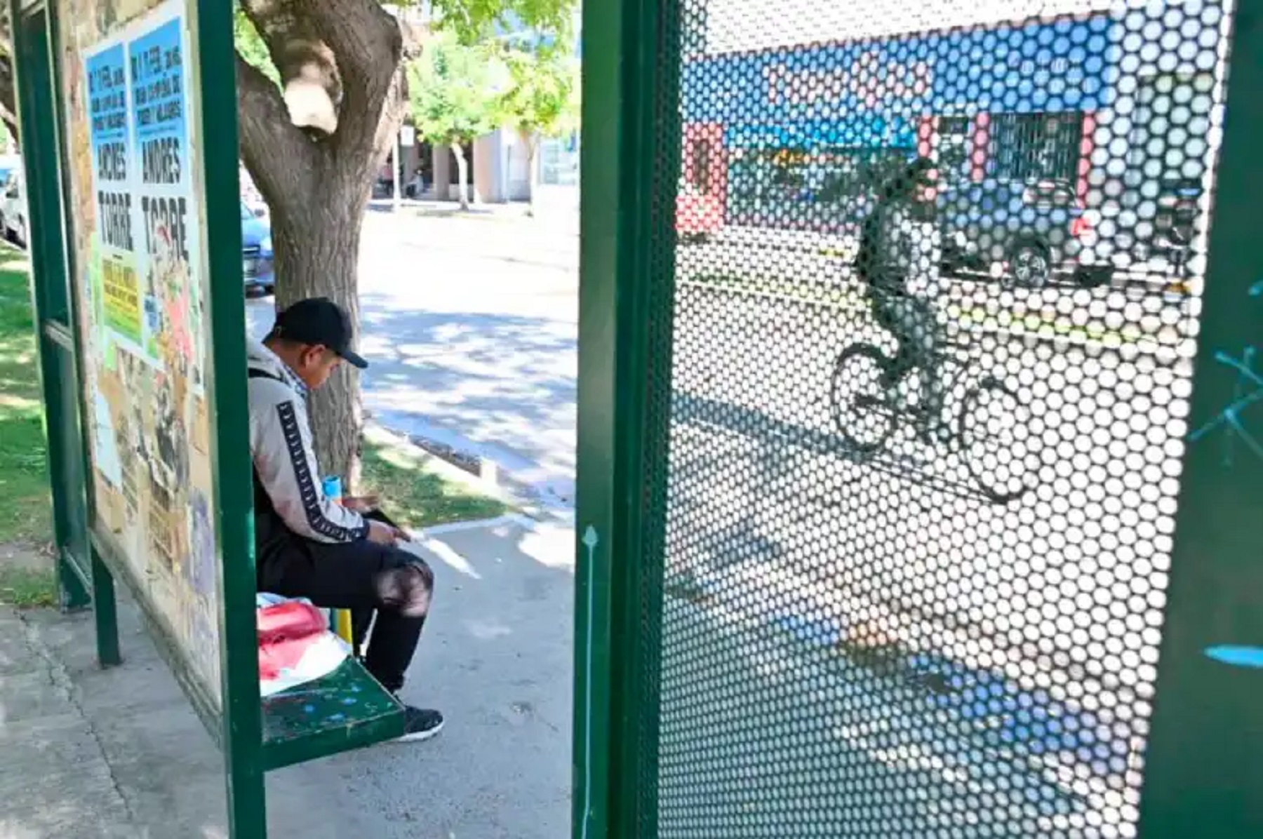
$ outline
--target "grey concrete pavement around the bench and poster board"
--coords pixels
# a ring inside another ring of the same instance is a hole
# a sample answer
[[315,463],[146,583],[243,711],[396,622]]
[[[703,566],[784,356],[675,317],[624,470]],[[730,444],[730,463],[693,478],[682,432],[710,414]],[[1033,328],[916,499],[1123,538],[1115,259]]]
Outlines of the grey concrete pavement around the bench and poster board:
[[[446,730],[270,773],[269,835],[565,835],[572,543],[524,518],[423,532],[437,591],[404,697]],[[0,839],[227,836],[220,754],[120,607],[125,661],[105,671],[90,613],[0,607]]]

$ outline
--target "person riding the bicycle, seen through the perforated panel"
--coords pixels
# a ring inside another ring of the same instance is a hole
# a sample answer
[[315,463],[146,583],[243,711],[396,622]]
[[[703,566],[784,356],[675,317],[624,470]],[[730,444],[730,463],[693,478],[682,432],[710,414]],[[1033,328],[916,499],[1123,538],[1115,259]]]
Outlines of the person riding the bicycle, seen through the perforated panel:
[[938,371],[943,334],[933,303],[941,291],[942,262],[937,186],[935,163],[923,157],[887,181],[864,219],[855,260],[873,317],[899,347],[883,387],[893,388],[913,369],[921,370],[919,428],[927,440],[941,427],[943,408]]

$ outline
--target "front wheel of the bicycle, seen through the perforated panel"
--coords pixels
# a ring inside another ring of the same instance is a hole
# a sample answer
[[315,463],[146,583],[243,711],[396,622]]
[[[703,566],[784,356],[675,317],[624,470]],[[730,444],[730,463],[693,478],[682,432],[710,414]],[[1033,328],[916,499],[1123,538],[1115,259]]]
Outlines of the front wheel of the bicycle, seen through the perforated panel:
[[989,499],[1005,504],[1034,488],[1039,454],[1031,408],[1003,382],[986,377],[965,394],[957,436],[969,473]]

